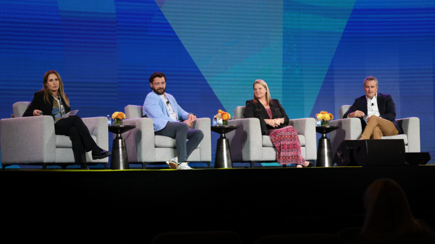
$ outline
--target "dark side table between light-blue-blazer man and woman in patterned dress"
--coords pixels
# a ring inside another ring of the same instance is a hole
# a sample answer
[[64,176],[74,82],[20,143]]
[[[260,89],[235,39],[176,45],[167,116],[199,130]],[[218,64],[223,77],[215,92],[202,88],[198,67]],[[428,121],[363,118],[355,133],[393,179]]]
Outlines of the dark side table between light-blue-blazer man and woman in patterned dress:
[[221,134],[216,144],[216,155],[214,157],[214,168],[233,168],[233,161],[231,160],[230,142],[225,137],[225,134],[237,129],[237,125],[221,125],[211,126],[210,129],[216,133]]

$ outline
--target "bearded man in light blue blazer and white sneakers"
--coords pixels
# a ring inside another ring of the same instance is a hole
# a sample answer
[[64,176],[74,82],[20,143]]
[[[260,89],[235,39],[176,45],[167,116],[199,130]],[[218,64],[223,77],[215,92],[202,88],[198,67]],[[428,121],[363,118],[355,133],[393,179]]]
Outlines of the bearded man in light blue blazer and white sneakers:
[[153,120],[155,135],[175,138],[177,145],[178,156],[166,164],[171,169],[192,169],[186,162],[187,158],[204,137],[201,130],[189,129],[195,123],[196,116],[184,111],[171,94],[165,93],[166,76],[163,73],[152,74],[150,86],[153,91],[145,98],[144,115]]

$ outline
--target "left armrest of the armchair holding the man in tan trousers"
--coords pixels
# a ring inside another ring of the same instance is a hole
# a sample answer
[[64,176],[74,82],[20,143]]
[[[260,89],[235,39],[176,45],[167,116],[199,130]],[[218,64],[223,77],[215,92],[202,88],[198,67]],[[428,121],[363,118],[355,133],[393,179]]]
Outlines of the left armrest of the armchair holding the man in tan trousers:
[[329,125],[340,127],[329,133],[332,154],[337,151],[341,141],[345,139],[358,140],[363,133],[361,128],[361,120],[359,118],[332,120],[329,121]]

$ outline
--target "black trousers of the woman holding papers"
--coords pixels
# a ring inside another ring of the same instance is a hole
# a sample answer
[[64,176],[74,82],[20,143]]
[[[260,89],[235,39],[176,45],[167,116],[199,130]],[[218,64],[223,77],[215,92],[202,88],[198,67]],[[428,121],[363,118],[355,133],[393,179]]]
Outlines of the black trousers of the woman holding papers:
[[59,120],[55,124],[55,133],[57,135],[68,135],[71,138],[74,162],[77,164],[86,163],[85,153],[91,151],[97,145],[92,139],[88,127],[77,115]]

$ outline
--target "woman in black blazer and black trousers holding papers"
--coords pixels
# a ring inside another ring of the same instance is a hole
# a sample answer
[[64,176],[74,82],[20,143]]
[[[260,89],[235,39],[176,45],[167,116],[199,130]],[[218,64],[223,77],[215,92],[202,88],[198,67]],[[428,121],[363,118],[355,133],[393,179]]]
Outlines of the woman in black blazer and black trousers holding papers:
[[42,80],[42,89],[33,95],[33,101],[27,107],[23,116],[51,115],[57,135],[68,135],[72,142],[74,161],[83,169],[89,169],[86,165],[85,153],[92,150],[92,159],[104,159],[111,155],[110,152],[98,147],[92,139],[88,127],[77,115],[61,119],[63,115],[71,111],[69,99],[63,90],[63,82],[59,73],[49,70]]

